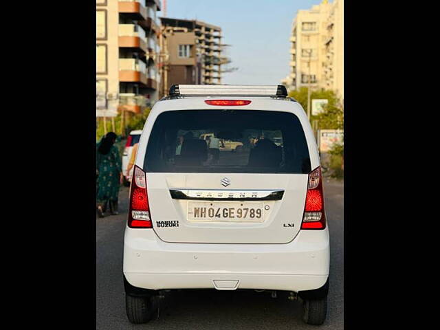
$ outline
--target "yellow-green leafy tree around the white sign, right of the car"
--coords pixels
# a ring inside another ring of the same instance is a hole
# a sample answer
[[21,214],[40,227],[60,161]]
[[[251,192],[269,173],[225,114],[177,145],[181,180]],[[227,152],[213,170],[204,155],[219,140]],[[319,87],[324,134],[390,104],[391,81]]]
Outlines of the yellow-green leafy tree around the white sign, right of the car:
[[[290,91],[289,97],[297,100],[307,111],[307,87]],[[325,98],[329,103],[323,107],[322,113],[311,115],[311,122],[317,120],[318,129],[344,129],[344,109],[336,93],[330,89],[319,89],[311,91],[310,100],[314,98]]]

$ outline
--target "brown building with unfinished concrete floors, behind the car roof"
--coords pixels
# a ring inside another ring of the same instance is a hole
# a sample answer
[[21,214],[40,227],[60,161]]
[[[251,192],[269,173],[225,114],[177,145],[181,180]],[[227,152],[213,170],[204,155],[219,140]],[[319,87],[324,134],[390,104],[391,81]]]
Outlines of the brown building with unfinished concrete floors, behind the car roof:
[[164,91],[174,84],[221,84],[224,65],[230,63],[223,56],[227,45],[221,42],[221,28],[197,20],[160,19]]

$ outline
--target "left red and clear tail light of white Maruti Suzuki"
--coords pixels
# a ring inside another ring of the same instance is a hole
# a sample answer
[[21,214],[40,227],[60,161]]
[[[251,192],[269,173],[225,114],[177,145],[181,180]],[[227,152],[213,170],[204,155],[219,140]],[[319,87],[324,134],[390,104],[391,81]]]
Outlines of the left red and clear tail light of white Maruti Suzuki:
[[128,225],[130,228],[153,228],[146,192],[146,175],[137,166],[131,179]]

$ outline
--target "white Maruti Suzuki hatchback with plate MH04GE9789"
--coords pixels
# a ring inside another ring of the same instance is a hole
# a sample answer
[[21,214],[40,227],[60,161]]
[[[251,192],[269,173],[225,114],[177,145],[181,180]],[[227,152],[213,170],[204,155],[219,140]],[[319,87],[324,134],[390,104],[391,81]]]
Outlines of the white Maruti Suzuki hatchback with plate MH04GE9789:
[[[212,132],[246,147],[207,162],[199,137]],[[135,160],[129,320],[157,316],[173,289],[255,289],[300,298],[303,320],[321,325],[330,253],[322,184],[314,133],[285,87],[173,85],[148,115]]]

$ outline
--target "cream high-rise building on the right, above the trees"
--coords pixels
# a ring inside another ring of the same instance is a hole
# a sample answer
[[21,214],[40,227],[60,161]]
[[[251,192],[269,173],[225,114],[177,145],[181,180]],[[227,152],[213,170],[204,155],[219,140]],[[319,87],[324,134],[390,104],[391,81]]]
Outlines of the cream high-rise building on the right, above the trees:
[[333,89],[344,96],[344,2],[324,0],[310,10],[298,10],[290,37],[288,89]]

